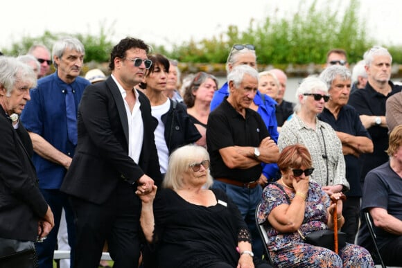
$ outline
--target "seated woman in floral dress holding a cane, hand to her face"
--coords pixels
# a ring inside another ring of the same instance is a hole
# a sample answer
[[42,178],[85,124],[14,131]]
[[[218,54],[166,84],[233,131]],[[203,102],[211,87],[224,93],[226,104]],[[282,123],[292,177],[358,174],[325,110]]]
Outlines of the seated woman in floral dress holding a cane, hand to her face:
[[[346,243],[339,255],[331,249],[304,242],[312,231],[333,229],[329,195],[309,179],[314,168],[308,149],[301,144],[284,148],[278,166],[282,177],[263,190],[258,218],[265,224],[268,249],[273,265],[278,267],[374,267],[369,252],[355,244]],[[342,200],[336,202],[337,224],[342,226]]]

